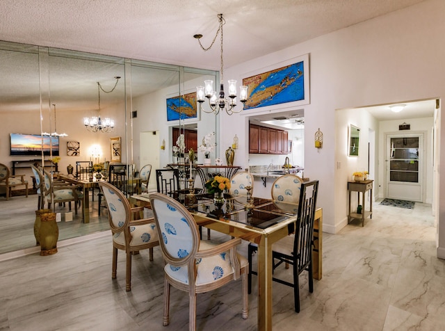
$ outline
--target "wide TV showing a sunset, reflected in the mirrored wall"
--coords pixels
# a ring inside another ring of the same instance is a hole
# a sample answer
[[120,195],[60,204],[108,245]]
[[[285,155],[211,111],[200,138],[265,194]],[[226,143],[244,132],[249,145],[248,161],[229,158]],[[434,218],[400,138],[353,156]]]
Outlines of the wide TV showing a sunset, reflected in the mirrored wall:
[[58,137],[40,134],[10,134],[10,146],[10,155],[42,155],[43,147],[44,155],[51,155],[52,149],[53,156],[58,156]]

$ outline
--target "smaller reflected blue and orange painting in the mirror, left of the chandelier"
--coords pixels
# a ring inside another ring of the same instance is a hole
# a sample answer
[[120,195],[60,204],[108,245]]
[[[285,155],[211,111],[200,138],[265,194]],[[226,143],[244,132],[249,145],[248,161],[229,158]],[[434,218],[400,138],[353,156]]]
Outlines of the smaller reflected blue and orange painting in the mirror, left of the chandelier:
[[196,92],[167,98],[167,121],[199,120],[197,118]]

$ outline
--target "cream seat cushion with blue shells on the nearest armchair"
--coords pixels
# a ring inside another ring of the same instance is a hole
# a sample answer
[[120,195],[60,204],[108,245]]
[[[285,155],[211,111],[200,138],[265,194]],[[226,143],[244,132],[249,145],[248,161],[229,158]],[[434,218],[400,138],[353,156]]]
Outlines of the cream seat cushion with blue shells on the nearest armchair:
[[[201,241],[200,250],[208,250],[218,243],[212,243],[211,241]],[[241,264],[241,268],[248,265],[248,260],[238,254],[238,260]],[[230,264],[229,251],[214,257],[205,257],[196,262],[197,264],[197,277],[196,284],[203,285],[219,280],[223,277],[231,276],[234,273],[232,265]],[[187,266],[176,267],[170,264],[166,264],[164,267],[165,273],[167,273],[173,279],[188,284]]]

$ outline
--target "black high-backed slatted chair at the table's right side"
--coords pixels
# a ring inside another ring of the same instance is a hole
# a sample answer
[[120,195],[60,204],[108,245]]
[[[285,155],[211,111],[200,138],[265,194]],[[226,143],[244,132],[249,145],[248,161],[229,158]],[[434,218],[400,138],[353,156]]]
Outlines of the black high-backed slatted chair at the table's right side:
[[[314,219],[316,211],[316,200],[318,194],[318,180],[307,181],[301,184],[300,199],[298,202],[298,213],[295,233],[280,239],[272,245],[272,268],[273,271],[280,264],[290,264],[293,266],[293,282],[273,277],[275,282],[293,287],[295,311],[300,312],[300,284],[298,276],[303,272],[308,273],[309,292],[314,291],[314,278],[312,275],[312,246],[314,245]],[[252,289],[252,253],[257,250],[257,246],[252,243],[248,247],[249,258],[249,293]]]

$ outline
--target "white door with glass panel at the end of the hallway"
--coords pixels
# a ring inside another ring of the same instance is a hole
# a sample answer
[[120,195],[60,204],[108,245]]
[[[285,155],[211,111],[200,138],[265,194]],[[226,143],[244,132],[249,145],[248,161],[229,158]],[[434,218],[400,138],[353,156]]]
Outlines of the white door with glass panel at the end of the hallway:
[[387,197],[423,200],[423,134],[387,136]]

